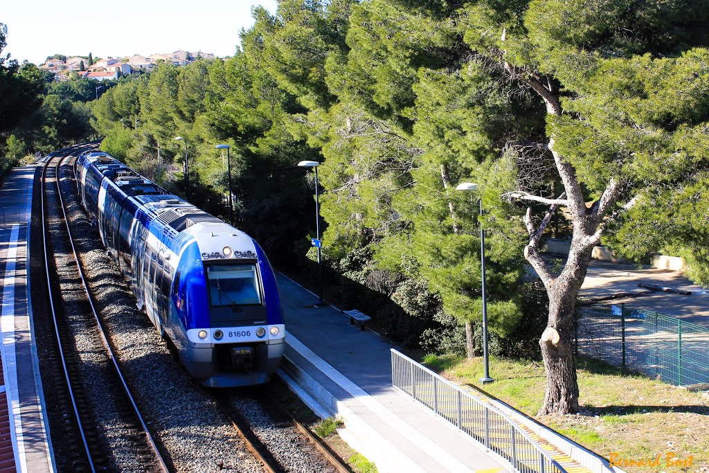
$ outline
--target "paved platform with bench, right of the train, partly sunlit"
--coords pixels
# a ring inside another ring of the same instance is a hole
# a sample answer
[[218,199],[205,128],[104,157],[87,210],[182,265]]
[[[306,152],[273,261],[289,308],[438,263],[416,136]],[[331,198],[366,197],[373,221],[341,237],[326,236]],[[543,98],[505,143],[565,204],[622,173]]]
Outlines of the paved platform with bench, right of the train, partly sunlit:
[[297,380],[318,415],[343,418],[340,435],[379,472],[510,471],[501,457],[392,389],[396,346],[350,325],[332,306],[316,307],[317,296],[282,274],[278,284],[288,330],[286,381]]

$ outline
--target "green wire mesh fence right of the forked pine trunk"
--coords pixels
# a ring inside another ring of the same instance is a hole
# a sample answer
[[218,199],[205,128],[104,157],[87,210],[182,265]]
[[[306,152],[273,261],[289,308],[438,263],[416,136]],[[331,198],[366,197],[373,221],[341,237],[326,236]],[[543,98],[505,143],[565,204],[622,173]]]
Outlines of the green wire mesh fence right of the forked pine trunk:
[[576,311],[576,353],[676,386],[709,389],[709,328],[625,304]]

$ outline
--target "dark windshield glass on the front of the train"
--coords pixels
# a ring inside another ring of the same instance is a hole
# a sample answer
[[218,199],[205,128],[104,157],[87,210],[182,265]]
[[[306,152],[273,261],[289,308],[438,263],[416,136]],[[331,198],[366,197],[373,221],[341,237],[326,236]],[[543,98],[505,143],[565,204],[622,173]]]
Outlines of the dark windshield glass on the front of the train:
[[212,307],[261,304],[255,265],[206,267]]

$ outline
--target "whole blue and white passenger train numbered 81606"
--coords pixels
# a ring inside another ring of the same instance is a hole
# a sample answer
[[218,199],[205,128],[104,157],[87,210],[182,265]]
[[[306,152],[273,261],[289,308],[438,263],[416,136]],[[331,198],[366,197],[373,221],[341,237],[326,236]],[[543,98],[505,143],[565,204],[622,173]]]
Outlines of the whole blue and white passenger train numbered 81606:
[[284,350],[273,269],[250,236],[105,152],[74,164],[80,199],[139,308],[213,387],[269,381]]

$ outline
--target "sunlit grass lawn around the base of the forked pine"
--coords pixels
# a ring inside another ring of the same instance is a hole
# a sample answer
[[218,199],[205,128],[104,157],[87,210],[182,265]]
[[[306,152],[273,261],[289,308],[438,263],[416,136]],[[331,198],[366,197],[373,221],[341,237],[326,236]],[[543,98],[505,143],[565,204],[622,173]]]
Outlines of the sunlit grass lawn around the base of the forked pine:
[[[627,472],[709,472],[709,398],[642,375],[627,374],[603,363],[579,360],[581,412],[568,416],[541,416],[546,378],[542,362],[492,358],[493,384],[480,384],[482,357],[428,355],[425,365],[459,384],[483,389],[537,421],[609,458],[618,453],[627,460],[654,459],[659,467],[623,467]],[[688,460],[691,467],[667,466]]]

